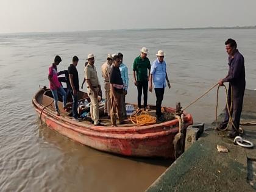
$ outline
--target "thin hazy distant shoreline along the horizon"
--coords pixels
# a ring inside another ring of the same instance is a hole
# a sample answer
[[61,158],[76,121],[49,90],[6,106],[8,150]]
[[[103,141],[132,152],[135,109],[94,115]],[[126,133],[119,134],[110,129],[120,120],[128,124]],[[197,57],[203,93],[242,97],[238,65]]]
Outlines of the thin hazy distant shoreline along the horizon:
[[75,32],[95,32],[95,31],[123,31],[123,30],[202,30],[202,29],[256,29],[256,26],[232,26],[232,27],[174,27],[174,28],[134,28],[134,29],[99,29],[99,30],[74,30],[74,31],[55,31],[55,32],[14,32],[0,33],[0,35],[23,35],[23,34],[60,34]]

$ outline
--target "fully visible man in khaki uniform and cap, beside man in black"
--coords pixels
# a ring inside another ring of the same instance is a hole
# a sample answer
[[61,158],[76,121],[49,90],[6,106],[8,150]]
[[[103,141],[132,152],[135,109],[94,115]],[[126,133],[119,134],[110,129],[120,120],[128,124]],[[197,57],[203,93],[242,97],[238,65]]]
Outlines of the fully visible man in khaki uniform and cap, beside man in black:
[[85,67],[85,79],[87,83],[87,93],[91,99],[91,119],[95,126],[104,126],[99,123],[99,102],[98,94],[101,93],[101,85],[97,76],[96,67],[94,66],[94,55],[88,54],[88,65]]

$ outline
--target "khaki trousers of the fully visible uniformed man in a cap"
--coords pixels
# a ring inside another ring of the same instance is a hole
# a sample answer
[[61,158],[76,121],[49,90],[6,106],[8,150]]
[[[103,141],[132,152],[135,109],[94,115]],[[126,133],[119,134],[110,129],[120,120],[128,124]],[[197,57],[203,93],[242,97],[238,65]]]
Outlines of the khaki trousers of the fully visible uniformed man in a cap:
[[[99,123],[99,102],[98,97],[94,97],[94,93],[90,88],[87,88],[89,98],[91,99],[91,107],[90,107],[90,113],[91,113],[91,119],[94,121],[94,125]],[[99,89],[96,89],[99,91]]]

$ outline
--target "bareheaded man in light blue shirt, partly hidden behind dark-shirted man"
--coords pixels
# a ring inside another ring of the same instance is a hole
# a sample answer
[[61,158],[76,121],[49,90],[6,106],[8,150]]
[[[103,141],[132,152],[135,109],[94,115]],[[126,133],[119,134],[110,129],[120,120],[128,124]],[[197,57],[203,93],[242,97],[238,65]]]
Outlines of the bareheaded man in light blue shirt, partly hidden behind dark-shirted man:
[[121,96],[121,116],[122,118],[126,118],[126,94],[127,94],[128,85],[129,85],[128,68],[123,63],[124,55],[121,54],[121,52],[118,53],[118,57],[121,63],[121,65],[119,66],[119,69],[120,69],[121,77],[123,79],[123,84],[124,84],[124,93]]

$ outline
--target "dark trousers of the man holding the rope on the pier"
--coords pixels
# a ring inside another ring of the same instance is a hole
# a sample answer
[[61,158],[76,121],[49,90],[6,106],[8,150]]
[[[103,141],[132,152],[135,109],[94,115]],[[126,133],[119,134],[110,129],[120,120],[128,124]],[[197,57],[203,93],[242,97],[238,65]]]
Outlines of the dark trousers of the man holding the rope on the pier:
[[[239,129],[240,126],[240,117],[241,117],[241,112],[243,109],[243,101],[244,101],[244,89],[245,89],[245,82],[244,84],[241,84],[239,86],[233,86],[229,84],[229,91],[228,91],[228,104],[230,106],[231,104],[231,87],[233,91],[233,103],[232,103],[232,110],[230,111],[230,115],[233,116],[233,123],[236,127],[236,129]],[[230,107],[229,107],[230,108]],[[226,115],[224,118],[224,121],[222,122],[222,126],[227,126],[229,123],[229,112],[227,110],[227,105],[226,105]],[[232,132],[237,132],[235,127],[232,126]]]

